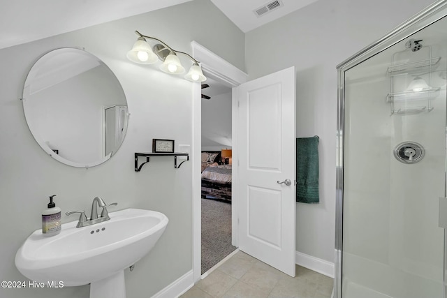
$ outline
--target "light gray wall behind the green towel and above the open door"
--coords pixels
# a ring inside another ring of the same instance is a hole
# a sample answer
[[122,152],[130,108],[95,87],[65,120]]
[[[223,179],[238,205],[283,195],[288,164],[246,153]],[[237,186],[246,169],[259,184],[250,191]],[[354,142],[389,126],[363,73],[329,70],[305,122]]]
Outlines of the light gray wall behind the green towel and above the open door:
[[249,78],[294,65],[297,136],[320,137],[320,204],[297,204],[297,251],[334,262],[335,66],[432,2],[320,0],[246,33]]

